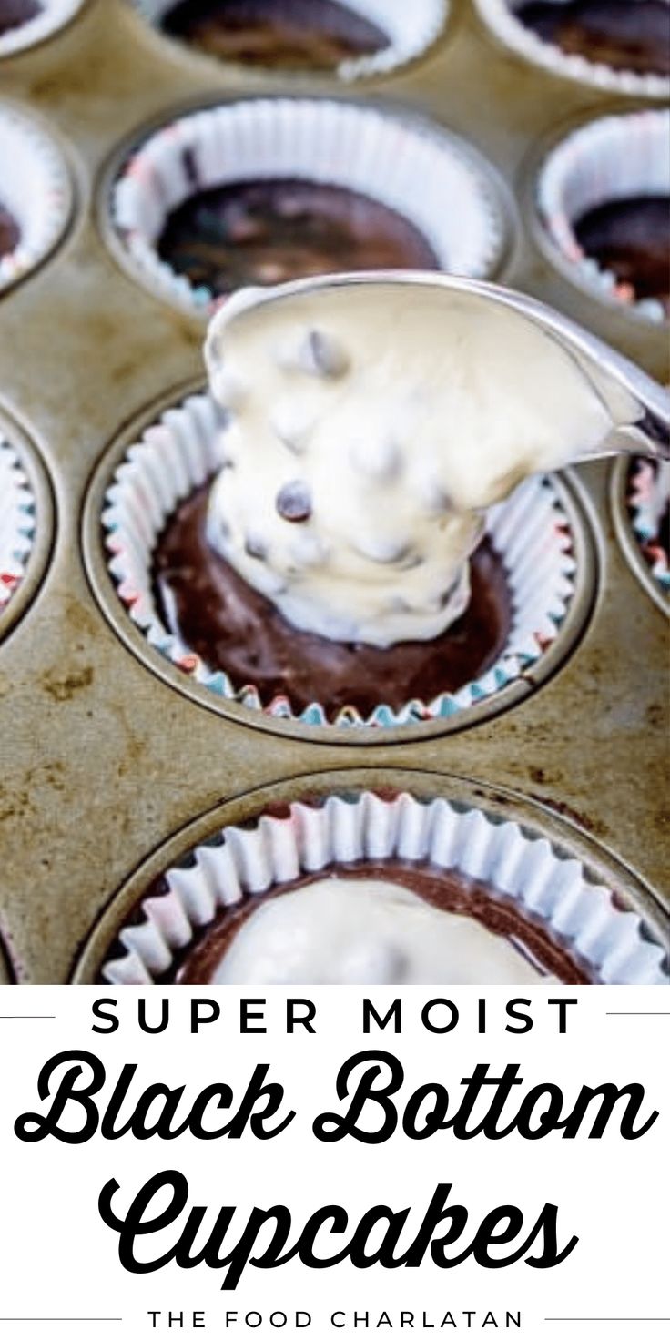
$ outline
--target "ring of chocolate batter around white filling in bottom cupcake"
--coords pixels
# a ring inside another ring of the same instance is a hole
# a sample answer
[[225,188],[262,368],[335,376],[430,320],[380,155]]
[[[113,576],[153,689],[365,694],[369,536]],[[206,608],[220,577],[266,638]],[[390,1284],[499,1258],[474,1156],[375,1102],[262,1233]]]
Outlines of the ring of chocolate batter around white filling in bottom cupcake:
[[[444,871],[399,859],[377,863],[355,862],[347,866],[327,867],[316,875],[302,875],[289,883],[275,886],[263,896],[281,896],[281,894],[312,884],[327,875],[338,875],[340,879],[347,875],[358,879],[383,879],[402,884],[431,903],[433,907],[445,913],[473,917],[488,930],[512,941],[525,958],[561,982],[571,986],[592,982],[586,965],[555,939],[544,923],[533,918],[532,913],[521,913],[512,898],[453,870]],[[162,891],[163,886],[158,880],[150,894],[155,895]],[[188,986],[206,985],[234,935],[247,918],[256,911],[257,904],[257,898],[248,898],[237,907],[220,911],[216,919],[200,933],[194,943],[189,945],[181,959],[177,958],[170,980]]]

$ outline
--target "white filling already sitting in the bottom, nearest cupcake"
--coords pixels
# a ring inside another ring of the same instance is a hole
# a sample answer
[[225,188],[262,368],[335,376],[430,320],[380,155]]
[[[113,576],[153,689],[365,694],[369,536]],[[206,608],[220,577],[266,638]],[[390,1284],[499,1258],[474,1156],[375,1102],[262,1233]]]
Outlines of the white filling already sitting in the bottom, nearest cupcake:
[[472,917],[433,907],[391,880],[336,875],[263,899],[210,977],[217,986],[552,981]]

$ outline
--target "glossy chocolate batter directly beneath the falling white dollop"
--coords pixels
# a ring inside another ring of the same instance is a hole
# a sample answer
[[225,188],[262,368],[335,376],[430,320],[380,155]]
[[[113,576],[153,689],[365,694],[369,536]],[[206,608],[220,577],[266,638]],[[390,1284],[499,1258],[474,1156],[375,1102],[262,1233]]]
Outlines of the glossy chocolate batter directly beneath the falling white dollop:
[[208,543],[209,485],[174,513],[154,556],[161,618],[212,670],[236,687],[257,685],[264,702],[285,694],[293,712],[322,702],[330,717],[355,706],[366,716],[379,702],[399,709],[430,701],[484,674],[511,627],[512,604],[503,563],[485,540],[472,559],[472,599],[441,636],[390,649],[340,643],[291,627]]

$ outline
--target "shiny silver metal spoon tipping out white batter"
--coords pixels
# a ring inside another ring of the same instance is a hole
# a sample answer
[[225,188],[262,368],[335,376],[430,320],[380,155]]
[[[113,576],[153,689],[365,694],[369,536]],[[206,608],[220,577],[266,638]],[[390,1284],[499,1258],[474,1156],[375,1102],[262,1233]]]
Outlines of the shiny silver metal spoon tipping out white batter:
[[402,284],[407,288],[438,287],[460,296],[504,307],[537,326],[580,367],[604,403],[612,419],[612,431],[598,445],[584,452],[582,458],[603,456],[649,456],[655,461],[670,460],[670,395],[630,359],[563,316],[545,303],[528,297],[512,288],[486,284],[452,275],[429,271],[362,271],[344,275],[320,275],[297,279],[276,288],[241,289],[233,299],[236,310],[273,303],[283,297],[311,293],[323,288],[344,288],[352,284]]

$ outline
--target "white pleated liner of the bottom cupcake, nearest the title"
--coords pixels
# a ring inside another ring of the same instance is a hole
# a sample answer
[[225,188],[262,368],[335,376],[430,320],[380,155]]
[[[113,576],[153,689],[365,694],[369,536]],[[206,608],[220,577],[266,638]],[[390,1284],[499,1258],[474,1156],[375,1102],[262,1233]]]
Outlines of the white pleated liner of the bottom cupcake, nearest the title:
[[117,986],[149,986],[170,973],[221,910],[304,874],[393,858],[489,884],[529,921],[543,923],[600,984],[670,981],[667,946],[547,838],[444,799],[418,800],[407,792],[389,799],[371,791],[297,800],[287,817],[261,815],[253,825],[222,828],[165,872],[165,892],[142,899],[139,918],[121,929],[121,951],[113,950],[102,977]]

